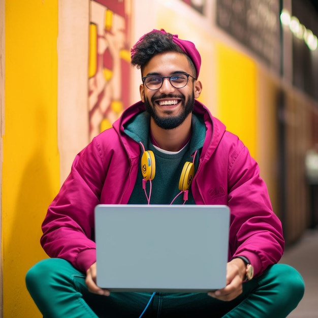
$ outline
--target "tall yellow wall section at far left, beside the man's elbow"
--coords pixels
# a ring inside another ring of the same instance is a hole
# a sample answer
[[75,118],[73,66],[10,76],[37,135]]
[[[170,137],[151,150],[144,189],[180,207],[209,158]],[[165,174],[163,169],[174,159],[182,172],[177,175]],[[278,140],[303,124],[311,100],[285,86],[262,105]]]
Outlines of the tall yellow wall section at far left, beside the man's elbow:
[[4,317],[41,317],[25,273],[46,257],[39,239],[59,188],[58,0],[5,2],[2,253]]

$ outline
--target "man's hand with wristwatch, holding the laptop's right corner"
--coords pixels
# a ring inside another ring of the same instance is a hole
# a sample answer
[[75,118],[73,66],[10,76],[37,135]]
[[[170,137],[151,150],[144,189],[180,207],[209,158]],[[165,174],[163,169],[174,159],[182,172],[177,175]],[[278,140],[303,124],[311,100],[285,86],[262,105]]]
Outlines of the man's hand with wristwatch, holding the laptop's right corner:
[[242,294],[242,282],[245,279],[246,266],[241,259],[233,259],[227,264],[226,287],[208,295],[219,300],[231,301]]

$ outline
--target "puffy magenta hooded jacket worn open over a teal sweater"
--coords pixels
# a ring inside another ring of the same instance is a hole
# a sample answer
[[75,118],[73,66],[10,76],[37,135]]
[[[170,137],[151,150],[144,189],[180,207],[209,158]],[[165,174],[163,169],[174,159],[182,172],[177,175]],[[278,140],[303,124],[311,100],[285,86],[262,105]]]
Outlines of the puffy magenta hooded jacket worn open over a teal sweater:
[[[113,128],[94,138],[76,157],[72,170],[43,221],[41,244],[50,257],[68,260],[82,272],[96,262],[94,207],[127,204],[140,169],[140,145],[123,125],[144,111],[138,102]],[[259,166],[237,136],[195,102],[204,116],[206,138],[192,183],[196,204],[225,204],[231,209],[229,260],[249,259],[256,275],[283,253],[281,222],[273,213]]]

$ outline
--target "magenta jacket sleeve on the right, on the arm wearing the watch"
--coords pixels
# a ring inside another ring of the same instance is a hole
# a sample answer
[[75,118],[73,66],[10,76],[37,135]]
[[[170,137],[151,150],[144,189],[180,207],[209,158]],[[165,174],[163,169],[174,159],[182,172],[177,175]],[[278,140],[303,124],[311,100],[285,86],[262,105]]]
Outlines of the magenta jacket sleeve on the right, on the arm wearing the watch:
[[231,209],[230,253],[245,256],[260,275],[283,253],[281,222],[272,210],[260,169],[241,144],[230,156],[228,202]]

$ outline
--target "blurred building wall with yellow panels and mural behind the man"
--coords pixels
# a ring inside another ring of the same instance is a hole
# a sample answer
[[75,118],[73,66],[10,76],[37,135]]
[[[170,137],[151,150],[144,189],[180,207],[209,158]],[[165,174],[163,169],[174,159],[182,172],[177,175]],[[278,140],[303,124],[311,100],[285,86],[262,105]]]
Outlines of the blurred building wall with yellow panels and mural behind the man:
[[139,100],[130,48],[153,28],[196,44],[200,101],[259,162],[287,245],[316,228],[315,0],[0,0],[0,316],[41,316],[24,277],[47,257],[47,207],[77,152]]

